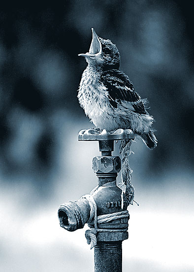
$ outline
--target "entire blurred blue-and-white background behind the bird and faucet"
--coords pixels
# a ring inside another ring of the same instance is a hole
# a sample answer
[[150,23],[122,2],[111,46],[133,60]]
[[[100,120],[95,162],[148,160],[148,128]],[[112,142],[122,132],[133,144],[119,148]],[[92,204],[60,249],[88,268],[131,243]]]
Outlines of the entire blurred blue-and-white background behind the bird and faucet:
[[[192,3],[191,3],[192,4]],[[194,16],[186,1],[64,0],[0,5],[0,271],[93,271],[84,229],[60,204],[97,184],[97,142],[77,90],[91,28],[150,101],[158,147],[132,143],[135,200],[123,271],[194,271]],[[118,154],[118,144],[115,145]],[[119,181],[119,178],[118,178]]]

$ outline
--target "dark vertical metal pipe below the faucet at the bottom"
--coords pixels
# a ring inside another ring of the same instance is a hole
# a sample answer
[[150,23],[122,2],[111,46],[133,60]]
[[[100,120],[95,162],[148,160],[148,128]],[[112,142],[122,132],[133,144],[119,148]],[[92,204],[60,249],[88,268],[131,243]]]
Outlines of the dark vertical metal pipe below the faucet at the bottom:
[[122,272],[122,241],[97,242],[95,272]]

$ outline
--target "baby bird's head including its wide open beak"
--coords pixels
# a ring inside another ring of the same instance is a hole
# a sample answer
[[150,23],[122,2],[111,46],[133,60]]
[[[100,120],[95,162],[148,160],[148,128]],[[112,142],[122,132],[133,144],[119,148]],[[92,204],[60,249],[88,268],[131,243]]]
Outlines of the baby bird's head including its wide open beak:
[[78,56],[85,57],[89,65],[101,67],[103,70],[119,69],[120,54],[117,46],[110,40],[99,38],[93,28],[92,34],[89,52]]

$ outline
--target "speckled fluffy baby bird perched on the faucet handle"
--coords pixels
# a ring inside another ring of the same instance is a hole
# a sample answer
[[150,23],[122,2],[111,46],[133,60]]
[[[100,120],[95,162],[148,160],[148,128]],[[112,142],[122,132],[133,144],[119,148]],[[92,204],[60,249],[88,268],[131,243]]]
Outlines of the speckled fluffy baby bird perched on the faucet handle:
[[149,148],[157,146],[151,128],[153,117],[146,110],[146,99],[134,91],[129,77],[119,70],[120,54],[110,40],[93,38],[85,57],[88,66],[82,74],[78,99],[85,114],[99,129],[131,129]]

